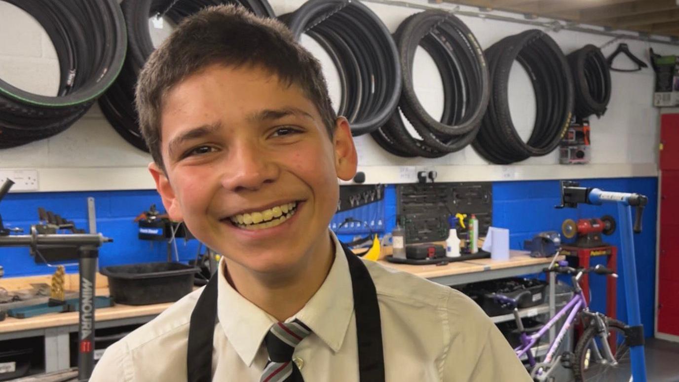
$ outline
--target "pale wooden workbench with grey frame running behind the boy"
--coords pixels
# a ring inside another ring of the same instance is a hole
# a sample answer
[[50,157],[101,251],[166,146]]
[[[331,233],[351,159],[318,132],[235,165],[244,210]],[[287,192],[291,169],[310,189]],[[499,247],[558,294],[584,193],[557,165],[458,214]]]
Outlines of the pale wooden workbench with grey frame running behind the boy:
[[[378,262],[389,268],[398,269],[430,279],[444,285],[460,285],[473,281],[484,281],[538,273],[549,264],[551,258],[531,258],[526,251],[510,251],[507,261],[489,259],[451,262],[443,266],[394,264],[385,260]],[[0,287],[7,290],[28,289],[31,283],[50,284],[50,276],[0,278]],[[78,275],[67,275],[65,289],[77,291]],[[96,294],[107,296],[108,280],[105,276],[96,275]],[[96,328],[113,328],[130,324],[143,324],[167,309],[172,303],[156,305],[116,305],[110,308],[96,309],[94,317]],[[39,317],[16,319],[7,317],[0,322],[0,341],[11,338],[44,336],[45,338],[45,371],[51,372],[69,368],[69,333],[77,332],[78,313],[52,313]]]

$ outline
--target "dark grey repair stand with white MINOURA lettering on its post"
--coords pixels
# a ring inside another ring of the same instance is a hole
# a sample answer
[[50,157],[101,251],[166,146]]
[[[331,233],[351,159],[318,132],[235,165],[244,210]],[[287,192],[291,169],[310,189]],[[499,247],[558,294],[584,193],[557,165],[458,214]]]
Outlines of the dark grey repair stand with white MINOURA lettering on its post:
[[[7,179],[0,186],[0,201],[10,191],[14,181]],[[16,230],[15,230],[16,231]],[[39,234],[31,226],[30,235],[10,235],[0,217],[0,247],[71,246],[79,253],[79,307],[78,307],[78,381],[88,381],[94,369],[94,291],[97,248],[113,241],[101,234]]]

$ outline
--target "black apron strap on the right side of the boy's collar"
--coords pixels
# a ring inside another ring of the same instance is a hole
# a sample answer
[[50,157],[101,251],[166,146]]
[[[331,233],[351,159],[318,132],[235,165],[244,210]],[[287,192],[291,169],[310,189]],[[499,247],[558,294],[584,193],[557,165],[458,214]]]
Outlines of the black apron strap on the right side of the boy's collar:
[[342,244],[349,262],[356,311],[356,337],[359,345],[359,381],[384,382],[382,322],[375,283],[363,261]]

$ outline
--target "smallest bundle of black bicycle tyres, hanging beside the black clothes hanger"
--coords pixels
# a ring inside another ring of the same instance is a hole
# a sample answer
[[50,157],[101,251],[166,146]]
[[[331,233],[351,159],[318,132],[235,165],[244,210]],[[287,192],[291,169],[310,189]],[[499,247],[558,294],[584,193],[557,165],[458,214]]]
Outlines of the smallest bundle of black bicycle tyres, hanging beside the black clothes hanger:
[[591,44],[566,56],[573,75],[574,114],[587,118],[601,117],[610,100],[610,70],[601,50]]

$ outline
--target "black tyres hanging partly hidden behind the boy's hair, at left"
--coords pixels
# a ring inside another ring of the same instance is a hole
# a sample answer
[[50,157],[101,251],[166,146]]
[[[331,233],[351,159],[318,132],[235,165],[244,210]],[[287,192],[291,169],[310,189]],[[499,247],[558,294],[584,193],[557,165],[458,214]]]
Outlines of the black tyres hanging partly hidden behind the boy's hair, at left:
[[137,76],[155,48],[149,31],[149,18],[167,16],[174,24],[204,7],[240,4],[257,16],[274,17],[266,0],[124,0],[120,5],[127,25],[128,54],[117,80],[100,97],[99,106],[109,123],[128,143],[148,152],[141,136],[134,107]]

